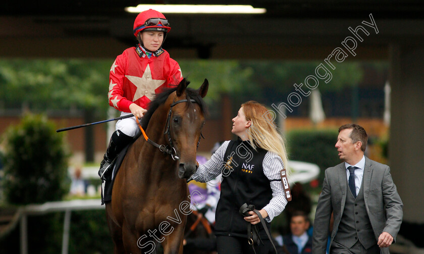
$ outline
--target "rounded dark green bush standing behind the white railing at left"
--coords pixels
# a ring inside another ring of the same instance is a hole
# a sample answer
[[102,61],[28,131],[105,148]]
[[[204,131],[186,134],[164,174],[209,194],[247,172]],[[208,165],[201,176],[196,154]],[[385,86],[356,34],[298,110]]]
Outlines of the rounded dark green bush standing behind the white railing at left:
[[27,115],[5,139],[3,187],[11,204],[61,200],[69,191],[63,136],[40,115]]

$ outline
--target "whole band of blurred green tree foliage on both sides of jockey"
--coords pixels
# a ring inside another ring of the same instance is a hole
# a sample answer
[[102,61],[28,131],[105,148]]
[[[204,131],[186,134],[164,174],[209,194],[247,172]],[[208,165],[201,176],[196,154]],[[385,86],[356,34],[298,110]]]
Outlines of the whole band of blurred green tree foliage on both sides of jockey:
[[[113,60],[12,59],[0,60],[0,108],[27,107],[32,111],[80,109],[107,115],[109,70]],[[223,93],[233,100],[255,99],[266,104],[280,101],[304,83],[321,62],[178,60],[193,87],[209,80],[206,103],[214,105]],[[328,67],[326,65],[326,67]],[[322,92],[358,84],[363,70],[358,62],[328,67],[332,80],[320,79]],[[305,88],[305,86],[303,86]],[[307,90],[307,88],[305,88]],[[91,114],[91,113],[90,113]]]

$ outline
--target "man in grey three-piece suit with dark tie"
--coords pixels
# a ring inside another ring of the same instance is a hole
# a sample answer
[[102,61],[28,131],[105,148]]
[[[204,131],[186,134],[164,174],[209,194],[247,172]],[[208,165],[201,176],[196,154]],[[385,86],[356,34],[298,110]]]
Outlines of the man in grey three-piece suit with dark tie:
[[331,214],[330,254],[389,253],[402,223],[402,200],[387,165],[364,156],[368,136],[356,124],[339,128],[343,162],[325,172],[312,236],[312,253],[325,254]]

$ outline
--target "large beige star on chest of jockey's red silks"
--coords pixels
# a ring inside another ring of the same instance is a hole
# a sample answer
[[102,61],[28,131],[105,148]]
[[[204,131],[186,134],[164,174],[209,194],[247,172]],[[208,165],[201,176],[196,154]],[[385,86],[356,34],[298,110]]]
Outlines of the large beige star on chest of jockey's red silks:
[[[125,75],[125,77],[127,77],[137,87],[132,101],[136,101],[144,95],[146,95],[146,97],[150,100],[153,100],[154,90],[157,87],[160,87],[163,83],[165,83],[165,80],[151,78],[151,71],[149,65],[147,65],[146,70],[144,71],[143,76],[141,78],[130,75]],[[149,92],[147,94],[144,94],[144,84],[146,85],[145,89]]]

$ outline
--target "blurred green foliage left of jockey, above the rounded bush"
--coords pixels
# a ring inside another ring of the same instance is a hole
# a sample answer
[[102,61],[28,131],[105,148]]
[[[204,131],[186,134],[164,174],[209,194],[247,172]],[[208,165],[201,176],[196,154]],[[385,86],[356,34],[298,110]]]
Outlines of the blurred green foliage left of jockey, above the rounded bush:
[[[109,69],[105,60],[0,60],[0,102],[31,110],[107,109]],[[0,105],[2,106],[2,105]]]

